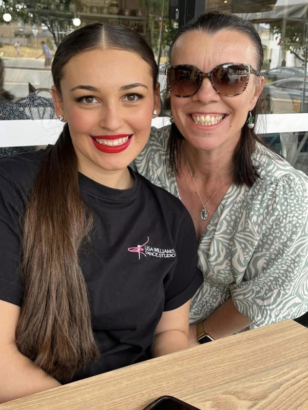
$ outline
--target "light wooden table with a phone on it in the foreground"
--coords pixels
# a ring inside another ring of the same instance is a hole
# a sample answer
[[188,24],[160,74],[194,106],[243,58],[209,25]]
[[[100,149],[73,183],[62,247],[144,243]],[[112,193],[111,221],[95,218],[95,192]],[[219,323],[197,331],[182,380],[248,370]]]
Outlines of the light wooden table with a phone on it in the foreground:
[[0,404],[0,410],[141,410],[162,395],[202,410],[307,410],[308,329],[286,320]]

